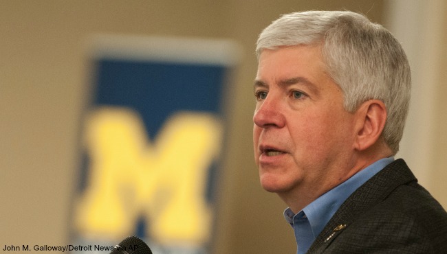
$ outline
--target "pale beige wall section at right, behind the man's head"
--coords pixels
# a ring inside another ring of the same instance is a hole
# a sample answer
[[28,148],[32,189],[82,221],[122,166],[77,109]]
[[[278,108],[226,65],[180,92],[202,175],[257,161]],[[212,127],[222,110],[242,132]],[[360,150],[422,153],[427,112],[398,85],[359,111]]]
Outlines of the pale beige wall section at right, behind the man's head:
[[412,69],[410,112],[397,157],[447,207],[447,2],[386,1],[384,12],[384,23],[402,42]]

